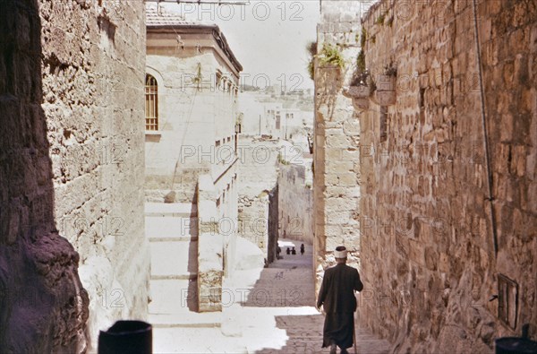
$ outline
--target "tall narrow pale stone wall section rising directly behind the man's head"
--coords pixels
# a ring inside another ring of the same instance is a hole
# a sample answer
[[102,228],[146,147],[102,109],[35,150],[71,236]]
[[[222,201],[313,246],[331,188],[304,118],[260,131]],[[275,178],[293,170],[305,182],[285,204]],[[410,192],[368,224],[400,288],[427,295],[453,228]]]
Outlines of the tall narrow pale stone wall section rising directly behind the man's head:
[[323,269],[335,264],[338,245],[349,250],[349,264],[357,266],[359,235],[360,128],[350,99],[341,94],[354,72],[360,45],[359,1],[322,1],[317,30],[318,53],[324,43],[336,45],[345,57],[345,69],[315,65],[314,125],[314,265],[319,290]]

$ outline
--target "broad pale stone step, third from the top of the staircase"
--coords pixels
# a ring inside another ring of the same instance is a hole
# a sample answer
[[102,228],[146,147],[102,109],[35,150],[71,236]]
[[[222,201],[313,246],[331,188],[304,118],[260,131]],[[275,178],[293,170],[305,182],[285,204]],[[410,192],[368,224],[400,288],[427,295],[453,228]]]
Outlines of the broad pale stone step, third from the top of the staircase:
[[188,280],[198,272],[197,241],[150,242],[149,248],[151,277],[172,276]]

